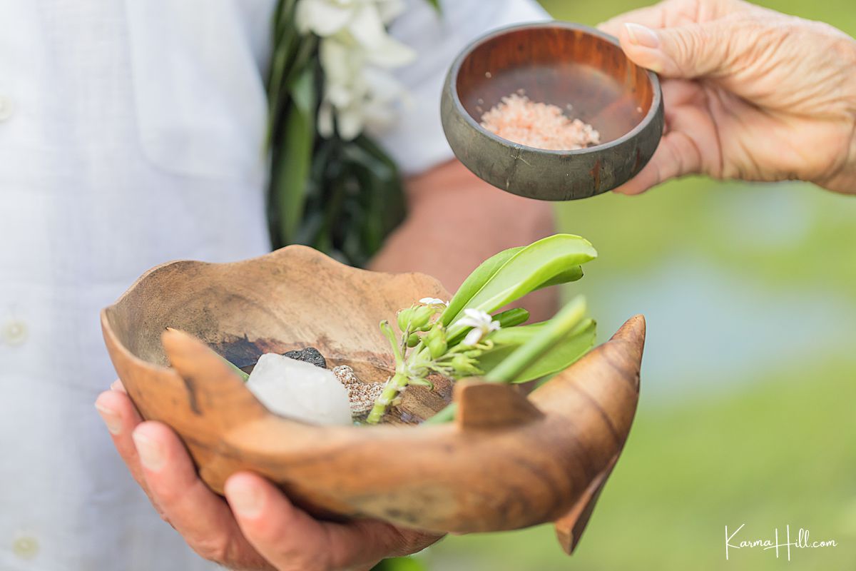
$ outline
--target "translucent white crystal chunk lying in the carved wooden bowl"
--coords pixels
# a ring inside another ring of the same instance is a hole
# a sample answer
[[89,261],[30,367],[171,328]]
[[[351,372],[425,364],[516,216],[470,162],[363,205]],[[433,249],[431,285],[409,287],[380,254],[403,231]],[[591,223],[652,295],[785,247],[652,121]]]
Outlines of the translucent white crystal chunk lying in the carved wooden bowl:
[[259,358],[247,380],[271,412],[318,425],[350,425],[348,390],[333,372],[275,353]]

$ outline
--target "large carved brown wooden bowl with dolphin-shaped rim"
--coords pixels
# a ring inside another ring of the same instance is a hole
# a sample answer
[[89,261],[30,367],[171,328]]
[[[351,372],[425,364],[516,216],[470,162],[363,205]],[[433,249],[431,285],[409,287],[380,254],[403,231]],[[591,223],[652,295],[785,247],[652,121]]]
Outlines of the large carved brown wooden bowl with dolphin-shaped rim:
[[[394,367],[377,324],[425,296],[422,274],[342,265],[291,246],[232,264],[160,265],[104,309],[104,340],[143,418],[171,426],[214,491],[252,470],[318,517],[432,532],[555,521],[570,552],[630,431],[645,321],[526,397],[478,378],[408,387],[380,425],[312,425],[270,413],[220,358],[318,348],[364,382]],[[169,328],[169,329],[168,329]],[[219,356],[218,356],[219,355]],[[451,401],[455,421],[419,425]]]

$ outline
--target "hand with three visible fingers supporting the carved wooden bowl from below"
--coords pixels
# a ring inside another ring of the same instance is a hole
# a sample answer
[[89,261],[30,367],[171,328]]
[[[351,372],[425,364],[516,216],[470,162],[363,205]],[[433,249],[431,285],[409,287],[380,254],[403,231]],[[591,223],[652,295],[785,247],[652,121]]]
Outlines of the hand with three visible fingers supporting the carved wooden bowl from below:
[[313,519],[275,485],[236,473],[226,499],[199,479],[175,432],[143,422],[119,381],[95,403],[128,470],[152,505],[200,556],[235,570],[344,571],[424,549],[440,536],[377,520]]

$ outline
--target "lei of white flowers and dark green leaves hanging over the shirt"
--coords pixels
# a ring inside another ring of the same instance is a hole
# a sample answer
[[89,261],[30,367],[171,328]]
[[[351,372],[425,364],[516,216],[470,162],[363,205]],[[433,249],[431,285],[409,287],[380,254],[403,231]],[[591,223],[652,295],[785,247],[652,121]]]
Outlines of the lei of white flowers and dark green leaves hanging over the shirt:
[[407,104],[390,72],[416,54],[387,32],[403,9],[402,0],[277,5],[268,80],[275,247],[303,243],[363,265],[401,222],[398,170],[371,134]]

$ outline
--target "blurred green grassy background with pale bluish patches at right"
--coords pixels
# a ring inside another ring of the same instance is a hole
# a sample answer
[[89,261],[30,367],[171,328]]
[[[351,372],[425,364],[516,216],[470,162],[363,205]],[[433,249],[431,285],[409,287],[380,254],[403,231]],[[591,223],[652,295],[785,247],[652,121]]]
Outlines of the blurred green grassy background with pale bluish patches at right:
[[[544,0],[594,25],[645,5]],[[853,0],[764,5],[856,35]],[[856,70],[853,70],[856,74]],[[809,185],[691,178],[639,197],[560,205],[560,228],[600,258],[573,293],[601,340],[645,313],[639,412],[577,553],[551,526],[445,539],[442,571],[856,568],[856,197]],[[572,293],[571,291],[568,292]],[[502,474],[497,474],[502,478]],[[838,546],[732,551],[811,530]]]

